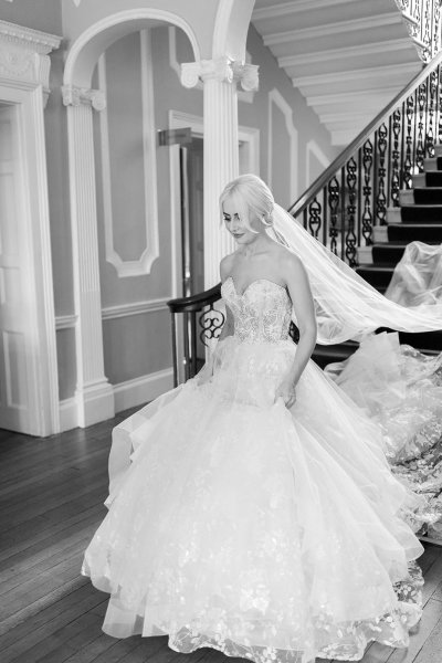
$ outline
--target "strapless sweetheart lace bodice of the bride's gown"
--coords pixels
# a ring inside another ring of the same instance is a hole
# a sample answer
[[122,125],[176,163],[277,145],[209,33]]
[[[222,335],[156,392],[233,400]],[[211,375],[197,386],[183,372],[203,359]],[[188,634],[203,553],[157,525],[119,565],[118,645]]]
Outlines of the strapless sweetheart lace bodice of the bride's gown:
[[240,340],[276,343],[288,338],[292,302],[285,287],[257,278],[238,294],[229,276],[221,293],[233,314],[234,335]]

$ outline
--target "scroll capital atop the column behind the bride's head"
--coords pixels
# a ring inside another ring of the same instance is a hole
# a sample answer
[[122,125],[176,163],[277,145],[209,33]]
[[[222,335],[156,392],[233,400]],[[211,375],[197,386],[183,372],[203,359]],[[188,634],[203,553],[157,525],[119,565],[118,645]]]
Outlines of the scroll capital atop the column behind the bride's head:
[[257,90],[259,66],[231,60],[227,55],[214,60],[185,62],[181,64],[181,83],[185,87],[196,87],[199,81],[215,80],[222,83],[235,83],[248,92]]

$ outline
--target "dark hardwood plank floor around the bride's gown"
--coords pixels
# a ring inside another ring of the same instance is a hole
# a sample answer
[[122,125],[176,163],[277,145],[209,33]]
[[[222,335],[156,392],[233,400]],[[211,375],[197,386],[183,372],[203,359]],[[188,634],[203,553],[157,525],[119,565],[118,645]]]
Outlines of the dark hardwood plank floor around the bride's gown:
[[[178,654],[166,635],[102,632],[107,594],[80,568],[106,513],[110,431],[127,415],[43,440],[0,431],[1,663],[244,661],[210,649]],[[442,663],[442,548],[425,544],[420,564],[425,607],[410,648],[372,644],[362,663]]]

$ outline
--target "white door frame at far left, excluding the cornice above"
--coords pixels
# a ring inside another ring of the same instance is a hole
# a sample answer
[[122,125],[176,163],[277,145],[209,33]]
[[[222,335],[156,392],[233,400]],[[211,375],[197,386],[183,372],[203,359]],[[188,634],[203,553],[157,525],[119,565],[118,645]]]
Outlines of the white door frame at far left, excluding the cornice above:
[[30,260],[28,287],[33,291],[27,297],[33,350],[28,358],[32,434],[45,436],[59,432],[60,415],[42,90],[0,84],[0,101],[13,104],[18,113],[20,196],[27,228],[22,241]]

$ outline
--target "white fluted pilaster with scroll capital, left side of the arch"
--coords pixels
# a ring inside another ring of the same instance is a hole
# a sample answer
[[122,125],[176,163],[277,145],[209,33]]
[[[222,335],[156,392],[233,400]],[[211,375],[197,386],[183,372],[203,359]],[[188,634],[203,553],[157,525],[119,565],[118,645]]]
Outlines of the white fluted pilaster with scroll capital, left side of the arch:
[[93,109],[103,110],[97,90],[63,87],[67,106],[71,224],[74,261],[78,425],[115,414],[114,390],[104,375],[102,301],[96,215]]

